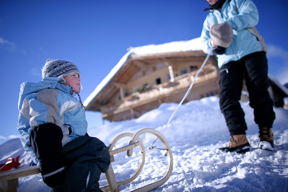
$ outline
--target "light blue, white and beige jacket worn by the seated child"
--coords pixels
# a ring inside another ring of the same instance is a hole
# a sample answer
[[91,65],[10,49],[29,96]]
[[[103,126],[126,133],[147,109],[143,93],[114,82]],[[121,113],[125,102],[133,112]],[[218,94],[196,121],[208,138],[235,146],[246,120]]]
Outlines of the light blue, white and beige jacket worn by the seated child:
[[36,164],[39,160],[32,147],[28,146],[30,132],[35,126],[44,123],[58,125],[63,132],[62,146],[87,132],[87,121],[81,103],[74,97],[71,87],[58,81],[57,77],[44,77],[40,82],[24,82],[20,87],[17,128],[24,149]]

